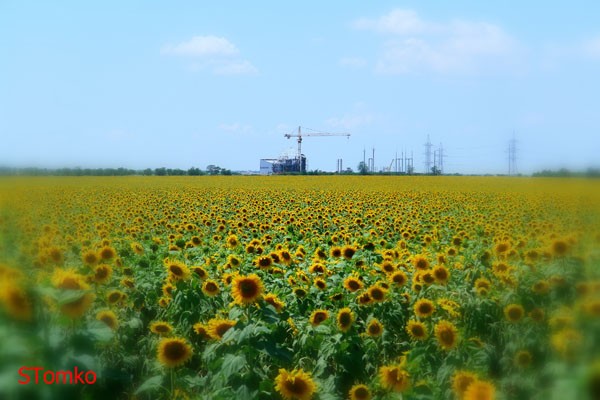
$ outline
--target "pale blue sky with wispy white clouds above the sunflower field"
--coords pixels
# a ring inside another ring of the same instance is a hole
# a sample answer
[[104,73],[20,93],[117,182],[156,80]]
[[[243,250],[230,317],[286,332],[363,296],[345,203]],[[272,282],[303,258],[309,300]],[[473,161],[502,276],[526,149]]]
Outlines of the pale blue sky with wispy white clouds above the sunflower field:
[[[0,164],[447,173],[600,164],[596,1],[0,0]],[[307,131],[308,132],[308,131]]]

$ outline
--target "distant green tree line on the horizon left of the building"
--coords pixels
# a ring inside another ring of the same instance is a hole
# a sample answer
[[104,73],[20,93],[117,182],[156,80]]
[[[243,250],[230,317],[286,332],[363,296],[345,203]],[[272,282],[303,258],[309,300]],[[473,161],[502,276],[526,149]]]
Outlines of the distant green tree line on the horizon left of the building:
[[199,176],[199,175],[233,175],[226,168],[208,165],[205,170],[191,167],[187,170],[179,168],[146,168],[136,170],[129,168],[11,168],[0,167],[0,176]]

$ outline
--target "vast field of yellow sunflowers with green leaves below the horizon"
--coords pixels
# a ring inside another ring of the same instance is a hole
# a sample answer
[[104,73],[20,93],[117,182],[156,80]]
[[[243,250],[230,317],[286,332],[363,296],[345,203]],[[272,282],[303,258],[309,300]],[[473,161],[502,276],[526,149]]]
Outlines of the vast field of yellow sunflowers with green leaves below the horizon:
[[600,182],[5,178],[0,398],[109,397],[598,399]]

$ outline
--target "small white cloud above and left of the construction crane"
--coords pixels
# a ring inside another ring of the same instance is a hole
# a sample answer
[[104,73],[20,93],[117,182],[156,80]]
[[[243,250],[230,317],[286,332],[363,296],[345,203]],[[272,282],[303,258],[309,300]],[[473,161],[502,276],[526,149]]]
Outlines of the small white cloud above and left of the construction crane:
[[176,45],[161,49],[164,55],[185,56],[191,59],[191,71],[210,71],[216,75],[255,75],[257,68],[239,56],[238,48],[224,37],[194,36]]

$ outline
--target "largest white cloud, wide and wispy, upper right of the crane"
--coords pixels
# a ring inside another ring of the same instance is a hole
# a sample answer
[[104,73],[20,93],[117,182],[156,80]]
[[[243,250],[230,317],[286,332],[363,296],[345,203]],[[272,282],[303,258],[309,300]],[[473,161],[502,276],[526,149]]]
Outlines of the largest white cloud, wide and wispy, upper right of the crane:
[[376,19],[359,19],[354,27],[386,38],[375,64],[382,74],[477,71],[516,61],[515,40],[487,22],[431,22],[397,9]]

